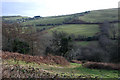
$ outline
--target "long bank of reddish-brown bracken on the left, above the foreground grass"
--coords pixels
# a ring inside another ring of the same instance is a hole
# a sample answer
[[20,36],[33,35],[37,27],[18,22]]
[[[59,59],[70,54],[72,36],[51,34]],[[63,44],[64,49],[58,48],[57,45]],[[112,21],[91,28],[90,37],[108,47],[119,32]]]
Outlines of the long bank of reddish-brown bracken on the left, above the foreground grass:
[[2,59],[14,59],[14,60],[21,60],[25,62],[35,62],[37,64],[45,63],[45,64],[59,64],[59,65],[69,65],[69,62],[62,56],[31,56],[31,55],[24,55],[20,53],[12,53],[12,52],[2,52]]

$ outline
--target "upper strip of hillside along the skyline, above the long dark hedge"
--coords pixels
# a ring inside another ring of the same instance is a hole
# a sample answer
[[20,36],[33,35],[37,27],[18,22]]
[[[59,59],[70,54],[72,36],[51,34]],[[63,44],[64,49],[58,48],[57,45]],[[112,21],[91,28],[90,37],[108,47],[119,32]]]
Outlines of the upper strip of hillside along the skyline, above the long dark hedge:
[[[27,19],[28,18],[28,19]],[[37,25],[37,24],[63,24],[66,20],[78,19],[85,22],[103,22],[103,21],[116,21],[118,20],[118,9],[105,9],[105,10],[95,10],[86,11],[82,13],[76,13],[71,15],[61,15],[61,16],[50,16],[41,17],[38,19],[32,19],[29,17],[3,17],[4,20],[17,20],[24,19],[23,25]]]

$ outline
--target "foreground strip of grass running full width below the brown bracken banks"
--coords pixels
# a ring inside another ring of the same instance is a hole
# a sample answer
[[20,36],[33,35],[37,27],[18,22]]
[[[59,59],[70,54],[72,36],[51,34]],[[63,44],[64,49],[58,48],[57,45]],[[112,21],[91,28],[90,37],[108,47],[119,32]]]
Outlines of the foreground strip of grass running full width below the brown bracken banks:
[[33,68],[40,68],[46,70],[51,74],[58,74],[60,77],[98,77],[98,78],[118,78],[117,70],[100,70],[100,69],[88,69],[83,67],[81,64],[71,63],[69,66],[60,65],[47,65],[47,64],[36,64],[36,63],[26,63],[24,61],[15,60],[4,60],[4,64],[14,65],[19,64],[20,66],[31,66]]

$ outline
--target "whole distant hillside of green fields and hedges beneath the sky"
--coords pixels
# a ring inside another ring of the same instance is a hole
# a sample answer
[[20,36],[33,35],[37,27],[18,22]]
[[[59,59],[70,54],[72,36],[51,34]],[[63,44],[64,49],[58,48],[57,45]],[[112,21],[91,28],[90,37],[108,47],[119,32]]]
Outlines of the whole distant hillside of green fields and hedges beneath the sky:
[[[34,32],[40,31],[45,35],[51,35],[52,31],[64,31],[69,35],[74,34],[76,37],[78,35],[92,37],[99,34],[100,29],[97,23],[103,23],[104,21],[118,21],[118,9],[104,9],[104,10],[94,10],[85,11],[82,13],[61,15],[61,16],[49,16],[49,17],[22,17],[22,16],[4,16],[3,22],[17,22],[25,27],[33,27]],[[70,24],[66,24],[70,23]],[[73,24],[77,23],[77,24]],[[78,24],[80,23],[80,24]],[[90,23],[90,24],[86,24]],[[91,24],[95,23],[95,24]],[[116,30],[118,29],[117,22],[112,23]],[[111,34],[111,32],[110,32]],[[111,37],[113,35],[111,34]],[[80,43],[80,42],[78,42]],[[82,42],[83,43],[83,42]]]

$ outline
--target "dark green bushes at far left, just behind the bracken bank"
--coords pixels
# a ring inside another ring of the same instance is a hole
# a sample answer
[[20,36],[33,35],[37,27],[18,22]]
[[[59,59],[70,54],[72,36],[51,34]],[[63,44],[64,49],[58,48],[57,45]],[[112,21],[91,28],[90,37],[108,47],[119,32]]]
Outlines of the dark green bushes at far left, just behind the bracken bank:
[[[4,45],[4,43],[3,43]],[[2,47],[3,51],[9,51],[9,52],[19,52],[23,54],[27,54],[30,51],[30,46],[27,42],[25,41],[20,41],[18,39],[9,39],[8,43],[6,43]]]

